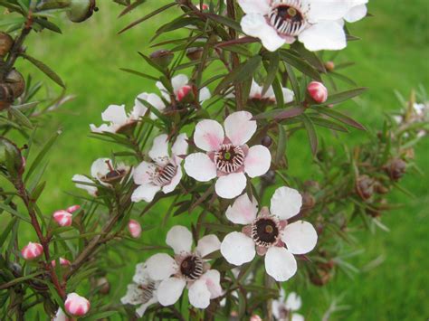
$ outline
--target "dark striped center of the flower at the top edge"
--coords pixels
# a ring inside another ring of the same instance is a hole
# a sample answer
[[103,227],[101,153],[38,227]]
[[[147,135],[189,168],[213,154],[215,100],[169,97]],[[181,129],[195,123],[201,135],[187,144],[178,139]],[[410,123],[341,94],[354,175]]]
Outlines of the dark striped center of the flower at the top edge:
[[296,36],[307,26],[300,0],[274,1],[269,21],[277,32],[287,36]]

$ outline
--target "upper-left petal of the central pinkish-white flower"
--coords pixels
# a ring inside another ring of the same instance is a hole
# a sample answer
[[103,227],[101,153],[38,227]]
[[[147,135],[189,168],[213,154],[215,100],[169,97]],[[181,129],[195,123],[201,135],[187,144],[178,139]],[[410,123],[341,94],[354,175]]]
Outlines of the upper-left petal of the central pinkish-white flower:
[[224,128],[215,120],[201,120],[195,126],[194,142],[206,152],[215,151],[224,143]]

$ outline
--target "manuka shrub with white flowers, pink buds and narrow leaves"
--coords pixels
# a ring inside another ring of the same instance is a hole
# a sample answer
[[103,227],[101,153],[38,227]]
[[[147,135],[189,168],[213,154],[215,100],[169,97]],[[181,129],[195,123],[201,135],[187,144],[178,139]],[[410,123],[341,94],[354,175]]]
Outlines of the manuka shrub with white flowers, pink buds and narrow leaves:
[[[145,5],[115,2],[125,6],[120,15]],[[347,23],[364,18],[366,4],[180,0],[130,23],[121,33],[176,7],[176,18],[159,26],[152,43],[168,49],[139,52],[157,77],[125,70],[154,81],[159,92],[136,93],[129,113],[110,105],[101,113],[104,123],[89,124],[91,137],[114,152],[71,177],[87,192],[79,204],[58,204],[46,214],[38,206],[43,158],[60,133],[36,155],[33,133],[43,115],[71,96],[62,91],[35,100],[40,86],[25,80],[15,61],[32,63],[64,88],[55,71],[25,52],[24,42],[35,32],[60,33],[52,22],[58,12],[84,24],[97,7],[95,0],[0,0],[6,10],[0,24],[1,318],[23,320],[38,309],[54,320],[302,320],[295,312],[300,297],[285,297],[285,282],[325,285],[350,267],[343,259],[350,246],[336,244],[362,226],[386,230],[385,195],[401,188],[413,146],[428,130],[429,107],[412,95],[368,141],[344,149],[319,144],[318,127],[365,130],[336,107],[366,89],[336,90],[334,75],[348,79],[319,51],[345,48],[355,38]],[[185,37],[155,42],[176,30]],[[289,155],[286,145],[299,131],[309,137],[313,162],[303,165],[314,173],[311,181],[288,171],[286,156],[300,155]],[[16,143],[14,133],[26,144]],[[156,216],[156,204],[164,217],[146,226],[141,217]],[[172,216],[183,222],[168,230]],[[35,232],[26,245],[24,228]],[[168,247],[146,244],[128,288],[119,288],[120,300],[105,299],[110,256],[149,228]]]

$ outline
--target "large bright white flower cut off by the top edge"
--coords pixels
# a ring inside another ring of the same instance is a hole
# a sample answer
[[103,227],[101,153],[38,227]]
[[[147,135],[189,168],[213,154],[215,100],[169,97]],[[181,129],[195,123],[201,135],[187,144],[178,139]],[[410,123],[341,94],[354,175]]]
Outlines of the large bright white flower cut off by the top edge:
[[[353,1],[351,1],[353,2]],[[243,32],[261,39],[271,52],[296,38],[310,51],[347,45],[341,21],[353,4],[345,0],[239,0]]]

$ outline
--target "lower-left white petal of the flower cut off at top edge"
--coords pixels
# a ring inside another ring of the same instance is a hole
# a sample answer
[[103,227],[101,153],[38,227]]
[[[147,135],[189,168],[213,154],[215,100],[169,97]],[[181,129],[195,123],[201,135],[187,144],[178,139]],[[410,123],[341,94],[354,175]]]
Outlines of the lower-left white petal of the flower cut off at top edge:
[[261,39],[262,45],[270,52],[275,52],[286,43],[286,41],[267,24],[267,21],[261,14],[246,14],[243,16],[240,24],[243,33]]

